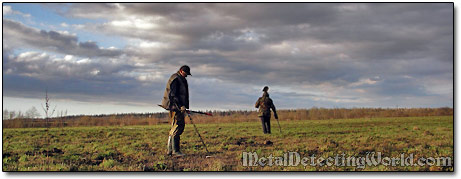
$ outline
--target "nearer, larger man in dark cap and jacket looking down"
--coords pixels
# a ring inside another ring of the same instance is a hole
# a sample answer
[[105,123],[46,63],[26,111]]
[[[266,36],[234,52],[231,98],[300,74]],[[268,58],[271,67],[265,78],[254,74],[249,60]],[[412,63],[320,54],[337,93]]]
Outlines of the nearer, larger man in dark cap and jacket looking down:
[[186,77],[190,74],[187,65],[171,75],[166,85],[162,106],[170,111],[171,130],[168,135],[168,155],[183,156],[180,151],[180,135],[184,132],[186,110],[189,109],[189,87]]

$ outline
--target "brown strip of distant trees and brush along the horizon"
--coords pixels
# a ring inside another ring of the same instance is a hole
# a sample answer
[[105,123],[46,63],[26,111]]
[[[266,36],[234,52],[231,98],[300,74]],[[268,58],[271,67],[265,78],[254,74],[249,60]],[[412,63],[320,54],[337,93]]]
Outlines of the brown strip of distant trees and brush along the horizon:
[[[250,122],[259,121],[256,111],[206,111],[213,116],[192,115],[195,123],[220,122]],[[453,108],[311,108],[282,109],[278,111],[280,120],[324,120],[348,118],[379,118],[379,117],[422,117],[422,116],[453,116]],[[30,119],[16,118],[3,120],[3,128],[31,127],[77,127],[77,126],[129,126],[156,125],[168,123],[168,113],[125,113],[110,115],[77,115]],[[275,119],[273,119],[275,120]],[[186,123],[190,123],[186,119]]]

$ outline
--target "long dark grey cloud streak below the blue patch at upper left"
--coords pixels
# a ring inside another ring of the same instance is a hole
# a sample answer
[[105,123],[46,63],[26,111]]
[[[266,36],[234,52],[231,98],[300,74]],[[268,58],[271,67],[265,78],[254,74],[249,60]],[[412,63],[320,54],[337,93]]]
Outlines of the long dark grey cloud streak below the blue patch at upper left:
[[9,19],[3,19],[3,34],[5,43],[15,48],[26,46],[83,57],[116,57],[121,54],[120,50],[101,49],[96,42],[78,42],[74,35],[37,30]]

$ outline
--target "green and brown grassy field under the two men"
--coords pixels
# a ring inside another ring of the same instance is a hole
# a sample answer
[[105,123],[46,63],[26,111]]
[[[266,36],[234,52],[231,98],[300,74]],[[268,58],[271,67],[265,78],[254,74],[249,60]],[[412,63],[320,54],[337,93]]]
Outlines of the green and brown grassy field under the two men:
[[[189,120],[189,119],[186,119]],[[453,116],[281,121],[265,135],[259,121],[191,124],[181,136],[183,158],[166,156],[169,125],[3,129],[3,171],[452,171],[438,166],[242,165],[242,152],[258,156],[365,156],[453,158]],[[267,144],[271,141],[273,144]]]

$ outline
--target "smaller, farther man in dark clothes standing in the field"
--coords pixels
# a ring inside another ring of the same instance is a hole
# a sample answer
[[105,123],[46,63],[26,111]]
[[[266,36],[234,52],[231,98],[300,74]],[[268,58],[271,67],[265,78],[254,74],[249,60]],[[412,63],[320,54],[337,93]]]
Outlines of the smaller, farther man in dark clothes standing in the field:
[[255,107],[259,108],[258,116],[261,118],[261,123],[263,125],[264,134],[271,133],[271,109],[274,111],[275,119],[278,119],[277,111],[275,110],[274,103],[272,99],[269,98],[269,87],[265,86],[263,88],[263,96],[256,101]]

